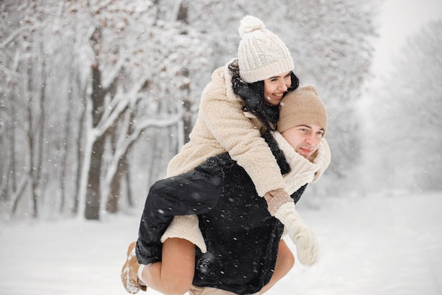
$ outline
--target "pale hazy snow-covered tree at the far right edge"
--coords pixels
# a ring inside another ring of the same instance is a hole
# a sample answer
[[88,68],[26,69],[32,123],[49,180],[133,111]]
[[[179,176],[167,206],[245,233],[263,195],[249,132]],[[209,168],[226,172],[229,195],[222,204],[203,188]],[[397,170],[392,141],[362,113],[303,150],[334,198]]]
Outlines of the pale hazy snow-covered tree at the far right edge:
[[372,95],[366,152],[384,189],[442,188],[441,28],[434,21],[410,37]]

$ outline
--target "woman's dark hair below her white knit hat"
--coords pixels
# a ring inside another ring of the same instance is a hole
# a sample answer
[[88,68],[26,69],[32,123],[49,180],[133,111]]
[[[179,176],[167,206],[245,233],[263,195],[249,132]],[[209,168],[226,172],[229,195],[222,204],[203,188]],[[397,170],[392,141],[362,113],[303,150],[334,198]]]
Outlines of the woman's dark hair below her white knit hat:
[[[244,112],[251,112],[267,129],[275,131],[276,122],[280,117],[280,106],[265,103],[264,81],[253,83],[242,81],[239,76],[237,61],[229,64],[229,71],[232,75],[233,92],[244,100],[242,110]],[[287,89],[287,92],[294,91],[299,86],[298,77],[293,72],[290,75],[292,76],[292,85]]]

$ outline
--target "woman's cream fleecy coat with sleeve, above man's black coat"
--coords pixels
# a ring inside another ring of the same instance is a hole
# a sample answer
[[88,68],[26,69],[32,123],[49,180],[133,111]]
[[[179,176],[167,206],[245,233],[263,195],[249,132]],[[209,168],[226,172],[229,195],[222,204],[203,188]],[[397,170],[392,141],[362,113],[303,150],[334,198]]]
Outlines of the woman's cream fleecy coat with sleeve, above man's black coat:
[[263,124],[244,112],[244,100],[233,92],[228,65],[213,72],[205,86],[190,141],[174,156],[167,177],[186,173],[206,159],[229,152],[249,174],[258,195],[284,187],[275,157],[261,137]]

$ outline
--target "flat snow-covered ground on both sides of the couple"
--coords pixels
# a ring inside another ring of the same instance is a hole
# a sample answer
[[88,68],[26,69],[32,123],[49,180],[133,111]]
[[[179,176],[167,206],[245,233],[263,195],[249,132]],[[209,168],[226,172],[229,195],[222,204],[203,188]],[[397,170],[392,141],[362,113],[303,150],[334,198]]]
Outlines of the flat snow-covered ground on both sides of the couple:
[[[321,244],[321,260],[313,267],[297,263],[267,294],[442,294],[442,192],[302,206],[299,212]],[[3,225],[0,294],[126,294],[119,272],[138,219]]]

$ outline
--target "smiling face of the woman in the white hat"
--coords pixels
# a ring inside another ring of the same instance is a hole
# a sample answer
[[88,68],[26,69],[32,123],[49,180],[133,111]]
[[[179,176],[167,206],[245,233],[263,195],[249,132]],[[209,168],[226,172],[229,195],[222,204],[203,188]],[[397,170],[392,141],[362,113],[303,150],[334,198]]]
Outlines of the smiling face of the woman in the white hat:
[[292,71],[264,80],[264,100],[269,105],[279,105],[285,91],[292,86]]

